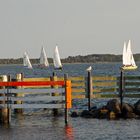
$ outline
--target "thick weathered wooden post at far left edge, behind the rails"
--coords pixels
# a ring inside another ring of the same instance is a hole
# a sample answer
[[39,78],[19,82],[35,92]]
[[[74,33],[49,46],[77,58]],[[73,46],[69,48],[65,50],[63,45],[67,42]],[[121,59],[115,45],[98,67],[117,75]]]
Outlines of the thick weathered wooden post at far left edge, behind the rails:
[[[7,75],[1,75],[0,81],[7,82],[8,81]],[[3,89],[5,87],[1,87],[1,88]],[[5,99],[7,99],[5,94],[0,93],[0,96],[5,97]],[[10,109],[7,106],[7,101],[1,100],[0,104],[5,105],[5,107],[0,108],[0,121],[3,124],[9,124],[10,123]]]

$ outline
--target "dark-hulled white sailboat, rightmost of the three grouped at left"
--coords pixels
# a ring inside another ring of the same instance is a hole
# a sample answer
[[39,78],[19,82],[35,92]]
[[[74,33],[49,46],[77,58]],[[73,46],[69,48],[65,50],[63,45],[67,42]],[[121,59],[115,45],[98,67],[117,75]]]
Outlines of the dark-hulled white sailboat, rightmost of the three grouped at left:
[[62,69],[62,63],[61,63],[61,60],[60,60],[58,46],[56,46],[55,50],[54,50],[53,63],[54,63],[54,68],[55,69]]

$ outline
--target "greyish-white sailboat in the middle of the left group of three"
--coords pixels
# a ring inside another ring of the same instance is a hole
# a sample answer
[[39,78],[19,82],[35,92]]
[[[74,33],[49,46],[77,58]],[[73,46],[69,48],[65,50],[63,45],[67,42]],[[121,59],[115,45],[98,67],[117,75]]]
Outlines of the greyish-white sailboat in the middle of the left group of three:
[[49,62],[44,47],[42,47],[41,49],[39,61],[40,61],[39,67],[41,68],[49,67]]

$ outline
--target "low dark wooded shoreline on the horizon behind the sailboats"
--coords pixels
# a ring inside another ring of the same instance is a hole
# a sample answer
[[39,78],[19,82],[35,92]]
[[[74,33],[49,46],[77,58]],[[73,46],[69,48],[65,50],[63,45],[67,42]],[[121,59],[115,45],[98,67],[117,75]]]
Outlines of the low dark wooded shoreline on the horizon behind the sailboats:
[[[140,62],[140,54],[134,54],[136,62]],[[32,64],[39,64],[39,59],[30,59]],[[52,58],[48,58],[49,63],[53,63]],[[69,56],[61,59],[62,63],[110,63],[110,62],[122,62],[122,55],[113,54],[91,54],[86,56]],[[23,58],[9,58],[0,59],[1,64],[23,64]]]

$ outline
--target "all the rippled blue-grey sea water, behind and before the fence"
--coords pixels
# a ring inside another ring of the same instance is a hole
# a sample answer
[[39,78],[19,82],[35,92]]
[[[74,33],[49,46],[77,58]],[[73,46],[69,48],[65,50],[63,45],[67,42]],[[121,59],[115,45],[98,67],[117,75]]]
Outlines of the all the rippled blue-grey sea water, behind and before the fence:
[[[128,71],[126,75],[140,75],[138,69]],[[63,64],[62,71],[54,70],[53,66],[40,69],[33,65],[33,69],[26,69],[22,65],[0,65],[0,75],[11,75],[15,78],[17,73],[24,77],[50,77],[57,76],[86,76],[87,67],[92,66],[92,76],[119,76],[121,63],[87,63]],[[97,107],[105,105],[110,99],[92,99]],[[138,98],[125,98],[125,102],[135,103]],[[28,110],[23,115],[12,115],[10,125],[0,125],[0,140],[140,140],[139,119],[93,119],[70,117],[72,111],[87,109],[87,99],[73,99],[72,109],[69,110],[68,125],[64,123],[64,116],[54,117],[50,110]]]

